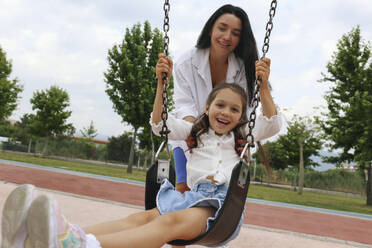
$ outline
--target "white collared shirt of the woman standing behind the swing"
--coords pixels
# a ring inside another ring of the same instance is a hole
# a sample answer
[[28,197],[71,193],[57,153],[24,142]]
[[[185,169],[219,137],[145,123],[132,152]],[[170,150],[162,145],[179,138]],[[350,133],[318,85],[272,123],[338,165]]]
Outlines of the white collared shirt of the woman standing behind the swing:
[[[208,95],[213,88],[209,52],[209,48],[193,48],[174,63],[173,99],[177,118],[183,119],[186,116],[197,118],[205,111]],[[225,82],[237,83],[247,91],[243,60],[237,58],[234,53],[230,53],[228,57]],[[170,144],[173,148],[180,146],[184,151],[187,150],[183,141],[171,141]],[[187,156],[187,153],[185,155]]]

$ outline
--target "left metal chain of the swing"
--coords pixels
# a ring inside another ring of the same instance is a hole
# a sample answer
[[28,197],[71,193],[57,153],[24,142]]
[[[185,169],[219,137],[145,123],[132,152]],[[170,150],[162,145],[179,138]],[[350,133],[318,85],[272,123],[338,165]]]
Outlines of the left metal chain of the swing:
[[[164,25],[163,25],[163,31],[164,31],[164,53],[168,56],[168,46],[169,46],[169,37],[168,37],[168,31],[169,31],[169,10],[170,10],[170,4],[169,0],[165,0],[164,3]],[[163,83],[163,92],[162,92],[162,98],[163,98],[163,109],[161,113],[161,119],[163,120],[163,126],[160,131],[160,135],[162,139],[166,142],[168,142],[168,133],[170,133],[170,130],[167,127],[167,120],[168,120],[168,105],[167,105],[167,98],[168,98],[168,74],[162,73],[162,83]],[[168,146],[167,146],[168,147]]]

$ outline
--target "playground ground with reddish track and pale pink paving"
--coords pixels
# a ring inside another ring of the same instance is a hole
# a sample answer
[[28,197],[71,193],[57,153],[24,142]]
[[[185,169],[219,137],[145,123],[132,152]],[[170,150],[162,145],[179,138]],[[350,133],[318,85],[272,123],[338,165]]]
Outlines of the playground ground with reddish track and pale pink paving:
[[[141,183],[0,161],[0,211],[7,195],[24,183],[57,198],[66,217],[81,226],[143,210]],[[372,247],[372,216],[368,215],[250,199],[244,223],[230,248]]]

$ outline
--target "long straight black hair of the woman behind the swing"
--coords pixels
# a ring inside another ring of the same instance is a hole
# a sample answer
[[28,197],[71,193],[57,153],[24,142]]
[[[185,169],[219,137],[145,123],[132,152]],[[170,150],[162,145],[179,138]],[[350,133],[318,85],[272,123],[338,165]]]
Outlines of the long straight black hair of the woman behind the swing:
[[248,102],[251,104],[253,99],[254,83],[256,80],[255,61],[258,60],[258,51],[256,39],[254,38],[247,13],[245,13],[243,9],[231,4],[223,5],[216,10],[216,12],[214,12],[205,23],[204,28],[199,35],[196,47],[203,49],[211,46],[210,33],[216,20],[223,14],[233,14],[242,22],[240,42],[235,48],[234,53],[236,57],[241,58],[244,61],[245,77],[247,79]]

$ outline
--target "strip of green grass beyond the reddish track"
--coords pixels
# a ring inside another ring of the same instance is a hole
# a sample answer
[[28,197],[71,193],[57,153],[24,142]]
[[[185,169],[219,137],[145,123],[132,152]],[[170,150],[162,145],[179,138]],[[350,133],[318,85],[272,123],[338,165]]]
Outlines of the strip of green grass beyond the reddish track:
[[[61,161],[3,151],[0,151],[0,159],[37,164],[46,167],[62,168],[97,175],[125,178],[141,182],[144,182],[146,178],[146,173],[144,171],[136,169],[133,169],[132,174],[128,174],[126,172],[126,169],[123,168],[106,167],[102,165],[92,165],[70,161]],[[251,185],[248,197],[261,200],[277,201],[317,208],[325,208],[372,215],[372,207],[367,206],[366,200],[361,198],[313,192],[303,192],[302,195],[298,195],[297,192],[293,190],[273,188],[263,185]]]

